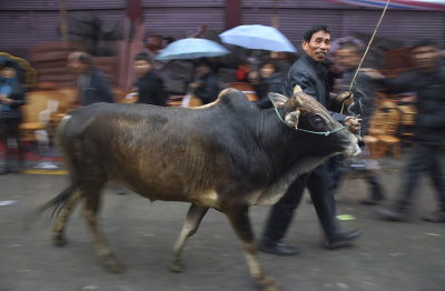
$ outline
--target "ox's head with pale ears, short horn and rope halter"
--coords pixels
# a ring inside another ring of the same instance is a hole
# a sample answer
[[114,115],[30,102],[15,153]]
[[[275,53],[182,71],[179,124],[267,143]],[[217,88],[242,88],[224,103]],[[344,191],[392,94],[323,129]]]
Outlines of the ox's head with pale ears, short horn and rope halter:
[[280,119],[286,126],[304,132],[315,143],[310,149],[314,154],[353,157],[360,152],[358,138],[334,120],[326,108],[303,92],[299,86],[295,87],[290,98],[269,93],[269,99],[277,109],[283,108],[277,110],[277,114],[283,114]]

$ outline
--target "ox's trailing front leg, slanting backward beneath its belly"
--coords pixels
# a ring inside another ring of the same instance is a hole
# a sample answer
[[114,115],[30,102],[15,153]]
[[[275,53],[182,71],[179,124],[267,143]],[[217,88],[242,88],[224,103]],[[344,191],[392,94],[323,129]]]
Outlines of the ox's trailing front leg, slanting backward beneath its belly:
[[184,222],[181,232],[179,234],[179,238],[175,244],[174,248],[174,260],[170,265],[170,270],[174,272],[181,272],[184,267],[180,260],[180,253],[182,251],[184,244],[186,243],[186,240],[194,235],[199,227],[199,223],[201,222],[204,215],[206,215],[208,208],[204,207],[198,207],[195,204],[190,205],[190,209],[188,210],[186,221]]

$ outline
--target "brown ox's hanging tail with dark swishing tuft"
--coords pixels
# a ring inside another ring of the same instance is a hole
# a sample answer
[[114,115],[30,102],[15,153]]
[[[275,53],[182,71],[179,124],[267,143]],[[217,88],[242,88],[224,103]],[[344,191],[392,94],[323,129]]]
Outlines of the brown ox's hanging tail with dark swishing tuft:
[[72,171],[72,165],[71,165],[71,160],[69,158],[69,154],[67,153],[67,142],[65,141],[65,127],[67,123],[71,120],[71,116],[66,116],[62,118],[62,120],[59,122],[56,131],[56,138],[55,142],[57,148],[59,149],[59,152],[61,153],[63,161],[69,169],[70,178],[71,178],[71,185],[65,189],[60,194],[48,201],[44,205],[42,205],[38,214],[41,214],[43,212],[50,211],[49,217],[52,219],[55,217],[58,217],[60,211],[63,209],[65,204],[67,203],[68,199],[76,192],[76,178],[75,178],[75,171]]

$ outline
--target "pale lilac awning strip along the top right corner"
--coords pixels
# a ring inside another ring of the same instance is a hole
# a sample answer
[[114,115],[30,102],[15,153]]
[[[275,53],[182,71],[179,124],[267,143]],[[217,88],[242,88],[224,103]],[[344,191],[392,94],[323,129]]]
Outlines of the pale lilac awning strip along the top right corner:
[[[384,8],[387,0],[326,0],[353,6]],[[414,10],[445,10],[444,0],[392,0],[388,8]]]

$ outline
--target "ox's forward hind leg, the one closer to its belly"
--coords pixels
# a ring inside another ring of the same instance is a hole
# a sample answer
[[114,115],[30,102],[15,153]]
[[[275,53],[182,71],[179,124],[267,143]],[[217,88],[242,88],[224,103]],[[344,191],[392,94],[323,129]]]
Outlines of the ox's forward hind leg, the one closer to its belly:
[[97,213],[100,207],[100,191],[102,190],[103,184],[105,181],[96,181],[95,184],[83,185],[80,188],[86,198],[83,217],[92,233],[97,257],[100,263],[107,271],[119,273],[122,272],[125,268],[112,255],[110,249],[108,248],[97,219]]

